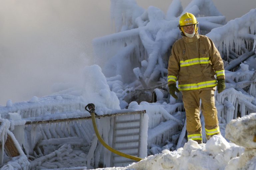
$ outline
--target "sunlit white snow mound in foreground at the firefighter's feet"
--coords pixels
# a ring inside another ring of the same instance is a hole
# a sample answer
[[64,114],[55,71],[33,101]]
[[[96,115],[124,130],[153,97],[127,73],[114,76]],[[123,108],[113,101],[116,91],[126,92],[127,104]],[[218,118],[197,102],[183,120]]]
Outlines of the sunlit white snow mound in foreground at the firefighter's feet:
[[229,161],[244,152],[244,148],[228,143],[221,135],[215,135],[206,144],[189,140],[177,151],[163,150],[127,168],[135,170],[225,169]]

